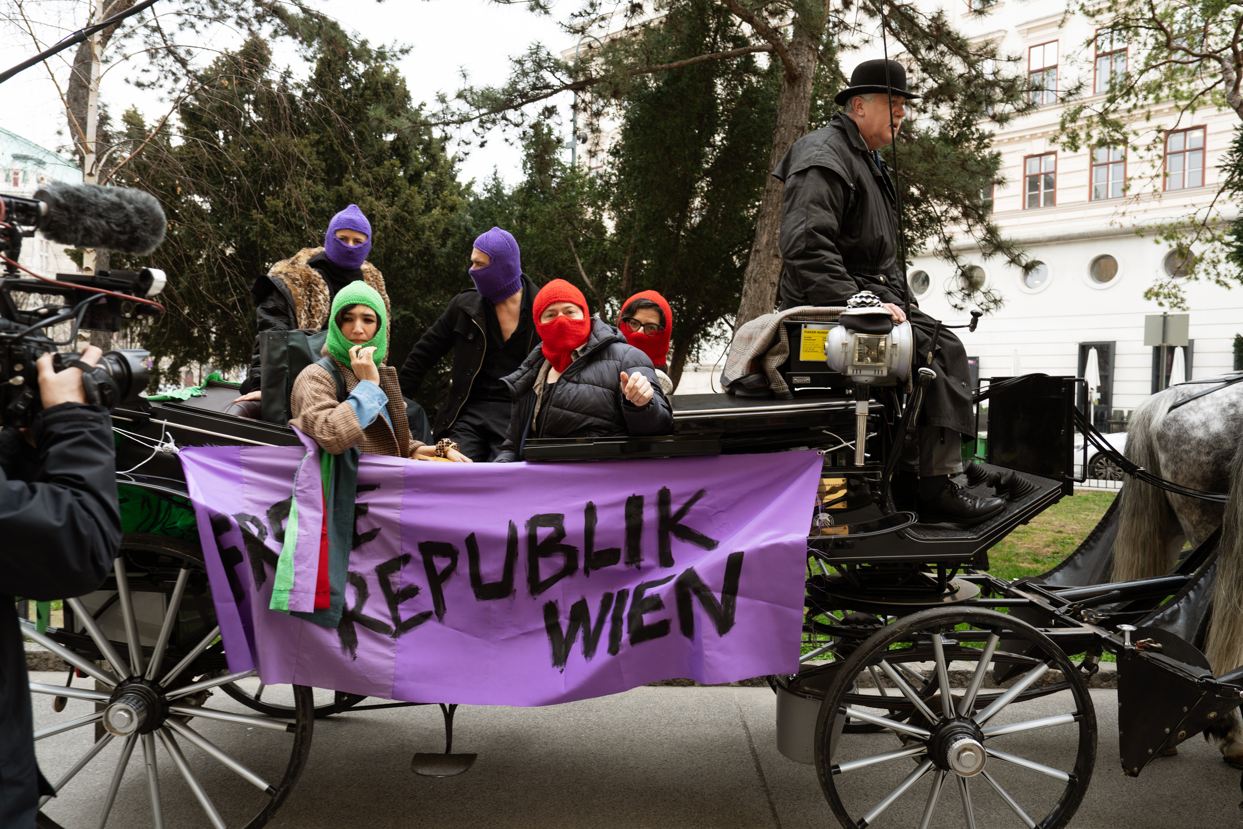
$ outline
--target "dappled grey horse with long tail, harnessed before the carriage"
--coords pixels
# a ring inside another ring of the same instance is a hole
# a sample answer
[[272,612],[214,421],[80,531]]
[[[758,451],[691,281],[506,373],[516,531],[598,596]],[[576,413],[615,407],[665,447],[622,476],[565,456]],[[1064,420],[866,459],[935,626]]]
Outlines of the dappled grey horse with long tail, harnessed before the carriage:
[[[1221,676],[1243,665],[1243,383],[1171,409],[1211,388],[1206,383],[1175,385],[1145,400],[1131,415],[1126,456],[1175,483],[1229,492],[1229,501],[1223,508],[1127,476],[1112,580],[1168,573],[1185,541],[1195,548],[1221,526],[1213,618],[1204,646],[1213,674]],[[1243,766],[1239,712],[1211,731],[1226,759]]]

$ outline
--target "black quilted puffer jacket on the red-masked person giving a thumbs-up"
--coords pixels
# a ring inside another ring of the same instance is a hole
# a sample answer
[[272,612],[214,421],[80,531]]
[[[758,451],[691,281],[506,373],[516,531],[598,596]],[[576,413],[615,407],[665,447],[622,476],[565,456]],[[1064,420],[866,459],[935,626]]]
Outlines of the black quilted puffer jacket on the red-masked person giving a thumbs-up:
[[[583,352],[544,393],[541,429],[531,435],[536,408],[536,380],[544,355],[536,347],[517,372],[503,379],[513,394],[510,431],[496,462],[522,460],[527,437],[613,437],[667,435],[674,413],[660,390],[656,369],[646,354],[625,341],[613,326],[592,318],[592,333]],[[622,394],[622,372],[638,372],[651,383],[651,400],[635,406]]]

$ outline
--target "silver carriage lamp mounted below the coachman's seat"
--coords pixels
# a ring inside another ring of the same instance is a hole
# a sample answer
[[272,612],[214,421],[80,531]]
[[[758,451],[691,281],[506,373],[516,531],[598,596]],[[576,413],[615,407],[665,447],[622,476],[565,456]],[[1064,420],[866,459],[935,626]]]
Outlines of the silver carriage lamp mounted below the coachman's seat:
[[[824,341],[829,368],[866,387],[906,380],[914,355],[911,323],[895,326],[889,309],[871,291],[850,297]],[[855,466],[864,465],[869,398],[870,394],[855,395]]]

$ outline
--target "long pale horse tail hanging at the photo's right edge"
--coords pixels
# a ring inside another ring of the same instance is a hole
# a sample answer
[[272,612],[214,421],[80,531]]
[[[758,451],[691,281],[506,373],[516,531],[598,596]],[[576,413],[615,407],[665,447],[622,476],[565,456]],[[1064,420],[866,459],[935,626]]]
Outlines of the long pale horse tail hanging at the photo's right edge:
[[1219,676],[1243,665],[1243,441],[1231,462],[1231,497],[1222,515],[1218,549],[1213,621],[1204,656]]

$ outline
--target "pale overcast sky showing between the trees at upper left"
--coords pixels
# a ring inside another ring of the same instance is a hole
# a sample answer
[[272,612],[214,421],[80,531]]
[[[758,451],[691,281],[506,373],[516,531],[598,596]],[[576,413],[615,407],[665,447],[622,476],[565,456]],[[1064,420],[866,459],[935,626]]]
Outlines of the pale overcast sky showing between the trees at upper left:
[[[313,5],[372,44],[397,41],[413,46],[399,67],[415,102],[433,103],[438,92],[451,96],[461,86],[462,68],[475,85],[502,83],[508,71],[508,57],[521,53],[532,42],[542,42],[558,52],[571,45],[556,19],[537,16],[523,5],[497,5],[486,0],[318,0]],[[576,4],[562,0],[562,5],[566,9],[556,11],[568,14]],[[37,15],[48,24],[36,30],[46,46],[85,25],[87,6],[80,0],[41,0],[27,4],[26,9],[27,14]],[[216,47],[231,45],[227,37],[214,44]],[[72,60],[75,48],[66,50],[63,60]],[[27,35],[0,25],[0,70],[19,63],[31,53],[34,47]],[[63,66],[61,63],[57,71],[62,82]],[[160,101],[126,83],[124,75],[126,70],[118,66],[104,76],[101,85],[101,98],[114,117],[119,117],[132,103],[148,116],[148,121],[152,116],[162,116],[165,108]],[[564,113],[562,132],[568,138],[572,97],[567,93],[562,98],[558,99]],[[58,131],[63,133],[63,126],[65,109],[42,66],[34,66],[0,86],[0,127],[55,149],[66,144],[66,137],[57,135]],[[461,178],[482,180],[493,167],[511,184],[521,176],[521,153],[503,140],[500,131],[487,137],[482,149],[477,145],[469,148]]]

